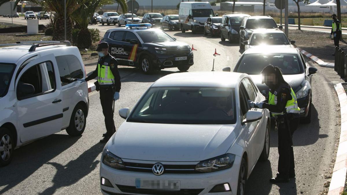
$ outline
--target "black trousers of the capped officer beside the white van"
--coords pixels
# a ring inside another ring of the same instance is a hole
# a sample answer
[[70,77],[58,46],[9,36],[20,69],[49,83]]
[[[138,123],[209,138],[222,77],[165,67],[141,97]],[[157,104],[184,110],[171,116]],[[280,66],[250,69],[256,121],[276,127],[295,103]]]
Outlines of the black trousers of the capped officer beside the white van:
[[107,136],[109,137],[116,132],[115,121],[113,120],[113,95],[114,92],[111,87],[100,87],[100,102],[105,117]]

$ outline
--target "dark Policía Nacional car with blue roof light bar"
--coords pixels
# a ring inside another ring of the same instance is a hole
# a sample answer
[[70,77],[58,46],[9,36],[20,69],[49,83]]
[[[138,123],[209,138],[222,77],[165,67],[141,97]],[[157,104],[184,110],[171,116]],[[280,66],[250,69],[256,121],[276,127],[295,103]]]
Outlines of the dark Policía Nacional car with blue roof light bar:
[[139,67],[145,74],[177,67],[187,71],[194,64],[191,47],[151,24],[127,24],[109,29],[101,40],[109,44],[109,53],[121,66]]

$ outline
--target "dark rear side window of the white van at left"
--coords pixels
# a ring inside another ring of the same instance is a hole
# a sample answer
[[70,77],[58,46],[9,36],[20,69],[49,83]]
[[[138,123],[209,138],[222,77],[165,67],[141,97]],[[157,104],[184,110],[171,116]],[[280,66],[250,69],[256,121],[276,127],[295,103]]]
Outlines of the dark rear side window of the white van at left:
[[71,83],[76,78],[83,78],[82,65],[76,56],[57,56],[56,60],[62,86]]

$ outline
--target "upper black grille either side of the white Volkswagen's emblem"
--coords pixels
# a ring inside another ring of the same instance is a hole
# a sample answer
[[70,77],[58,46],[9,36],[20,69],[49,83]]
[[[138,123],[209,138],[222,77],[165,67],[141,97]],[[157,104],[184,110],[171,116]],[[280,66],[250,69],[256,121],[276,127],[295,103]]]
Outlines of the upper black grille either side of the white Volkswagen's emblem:
[[[145,163],[134,163],[134,162],[124,162],[125,168],[119,169],[124,171],[134,171],[134,172],[147,172],[152,173],[152,168],[154,164],[145,164]],[[177,164],[163,164],[164,173],[175,173],[175,174],[192,174],[192,173],[201,173],[195,171],[195,164],[188,165],[177,165]]]

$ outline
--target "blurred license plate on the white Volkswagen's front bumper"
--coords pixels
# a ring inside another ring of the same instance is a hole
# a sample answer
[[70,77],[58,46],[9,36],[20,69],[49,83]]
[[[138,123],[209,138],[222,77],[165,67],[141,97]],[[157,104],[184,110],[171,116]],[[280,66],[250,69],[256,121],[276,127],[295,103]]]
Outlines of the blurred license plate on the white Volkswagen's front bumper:
[[142,189],[165,189],[165,190],[180,190],[181,183],[178,180],[142,180],[135,179],[136,188]]

